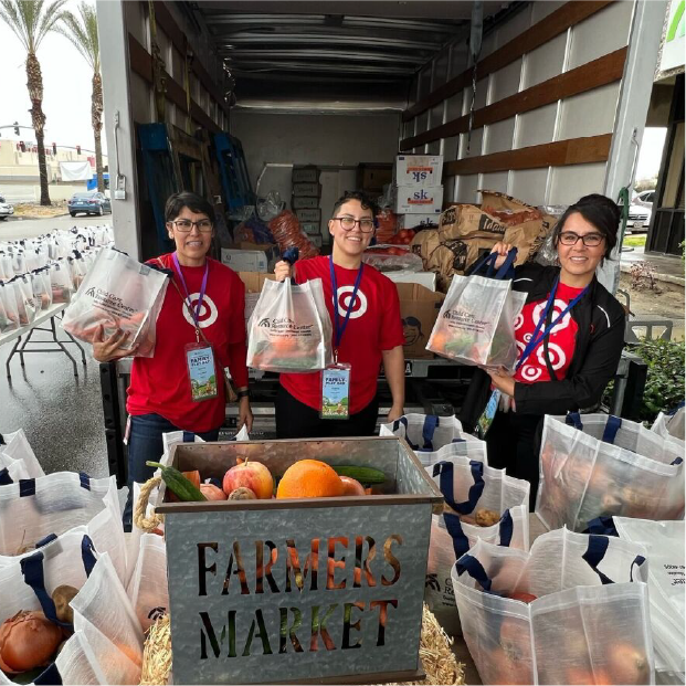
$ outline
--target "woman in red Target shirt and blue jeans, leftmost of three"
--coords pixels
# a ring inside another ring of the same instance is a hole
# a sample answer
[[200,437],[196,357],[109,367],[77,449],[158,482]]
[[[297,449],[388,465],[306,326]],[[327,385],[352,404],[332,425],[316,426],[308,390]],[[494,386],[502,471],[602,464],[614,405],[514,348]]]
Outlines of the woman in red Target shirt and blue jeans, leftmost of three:
[[[136,357],[126,409],[129,413],[128,486],[124,526],[130,530],[131,486],[155,472],[146,461],[162,454],[162,433],[189,431],[217,441],[225,416],[223,370],[239,395],[239,429],[250,431],[253,415],[245,366],[245,287],[238,274],[208,257],[214,210],[196,193],[175,193],[165,208],[176,251],[149,262],[168,272],[169,284],[157,319],[154,357]],[[93,346],[99,362],[116,360],[125,334]]]

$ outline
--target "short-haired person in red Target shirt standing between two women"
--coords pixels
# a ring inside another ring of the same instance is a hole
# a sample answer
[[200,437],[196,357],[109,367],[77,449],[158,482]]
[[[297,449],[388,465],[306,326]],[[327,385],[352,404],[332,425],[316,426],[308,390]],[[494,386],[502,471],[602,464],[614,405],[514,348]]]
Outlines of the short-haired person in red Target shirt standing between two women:
[[[335,356],[337,352],[344,373],[346,369],[349,373],[348,418],[320,416],[321,372],[282,373],[276,397],[279,439],[372,435],[379,414],[377,380],[381,362],[393,398],[388,421],[404,412],[404,337],[398,289],[390,278],[362,263],[373,232],[373,203],[363,193],[346,193],[334,205],[329,220],[331,256],[296,263],[296,283],[321,279]],[[277,263],[275,268],[277,281],[291,277],[292,272],[287,262]],[[339,405],[338,411],[345,413],[345,407]]]

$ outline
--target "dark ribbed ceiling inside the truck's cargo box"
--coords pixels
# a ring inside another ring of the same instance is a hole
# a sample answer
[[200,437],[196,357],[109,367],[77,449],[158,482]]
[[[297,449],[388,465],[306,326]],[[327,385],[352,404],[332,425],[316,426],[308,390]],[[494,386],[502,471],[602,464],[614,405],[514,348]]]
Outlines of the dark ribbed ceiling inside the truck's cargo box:
[[[179,2],[207,25],[239,107],[403,109],[412,76],[472,15],[472,0]],[[484,0],[484,14],[509,3]]]

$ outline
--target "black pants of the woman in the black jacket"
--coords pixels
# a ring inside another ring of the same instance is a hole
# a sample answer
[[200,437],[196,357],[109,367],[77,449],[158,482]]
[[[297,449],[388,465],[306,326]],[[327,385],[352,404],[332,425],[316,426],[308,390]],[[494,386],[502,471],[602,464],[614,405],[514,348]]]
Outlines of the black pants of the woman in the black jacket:
[[534,511],[538,490],[538,453],[542,416],[496,412],[486,434],[488,464],[505,469],[509,476],[531,484],[529,509]]

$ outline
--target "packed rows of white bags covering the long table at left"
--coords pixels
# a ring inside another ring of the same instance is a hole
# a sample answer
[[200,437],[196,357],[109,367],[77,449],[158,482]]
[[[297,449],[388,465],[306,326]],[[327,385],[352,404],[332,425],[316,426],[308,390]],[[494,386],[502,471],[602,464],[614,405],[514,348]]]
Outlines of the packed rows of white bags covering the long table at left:
[[29,326],[68,303],[104,245],[109,226],[84,226],[21,241],[0,241],[0,334]]

